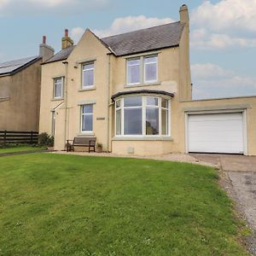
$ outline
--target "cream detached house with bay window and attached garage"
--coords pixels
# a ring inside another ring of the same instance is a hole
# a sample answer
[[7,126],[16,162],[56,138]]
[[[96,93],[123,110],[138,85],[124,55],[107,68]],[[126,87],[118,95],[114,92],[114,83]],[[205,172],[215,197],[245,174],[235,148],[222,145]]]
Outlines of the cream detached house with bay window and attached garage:
[[58,150],[96,137],[115,154],[256,154],[255,108],[255,97],[191,99],[186,5],[178,22],[108,38],[87,29],[76,46],[66,31],[42,65],[39,130]]

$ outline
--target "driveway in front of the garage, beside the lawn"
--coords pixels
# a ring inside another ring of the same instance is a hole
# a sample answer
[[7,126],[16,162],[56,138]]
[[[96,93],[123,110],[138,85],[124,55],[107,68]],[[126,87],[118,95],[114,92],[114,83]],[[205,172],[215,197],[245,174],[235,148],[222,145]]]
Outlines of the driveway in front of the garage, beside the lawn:
[[220,167],[227,174],[236,201],[241,206],[247,222],[256,230],[256,157],[227,154],[190,155]]

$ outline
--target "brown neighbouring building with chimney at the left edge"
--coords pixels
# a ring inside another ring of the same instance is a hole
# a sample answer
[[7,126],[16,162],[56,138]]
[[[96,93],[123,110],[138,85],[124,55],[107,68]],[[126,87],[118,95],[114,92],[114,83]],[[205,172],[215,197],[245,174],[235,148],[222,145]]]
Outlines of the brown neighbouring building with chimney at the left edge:
[[0,131],[38,131],[41,64],[54,55],[46,44],[39,55],[0,64]]

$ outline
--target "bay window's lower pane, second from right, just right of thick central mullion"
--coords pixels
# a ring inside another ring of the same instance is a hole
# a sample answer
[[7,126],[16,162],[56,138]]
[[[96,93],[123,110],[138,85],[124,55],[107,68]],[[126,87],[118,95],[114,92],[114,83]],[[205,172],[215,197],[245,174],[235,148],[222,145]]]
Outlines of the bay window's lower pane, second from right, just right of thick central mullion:
[[146,134],[159,134],[159,108],[146,108]]

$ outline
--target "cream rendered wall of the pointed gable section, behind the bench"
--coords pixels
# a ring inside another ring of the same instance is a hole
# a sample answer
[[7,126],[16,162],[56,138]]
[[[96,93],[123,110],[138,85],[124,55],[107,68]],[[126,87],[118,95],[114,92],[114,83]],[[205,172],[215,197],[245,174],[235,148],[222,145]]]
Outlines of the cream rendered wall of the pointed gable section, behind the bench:
[[[96,136],[96,142],[102,143],[103,150],[108,150],[108,53],[105,45],[92,32],[86,30],[79,44],[67,58],[67,138]],[[92,60],[95,88],[82,90],[82,65]],[[95,102],[93,134],[81,132],[81,102]]]

